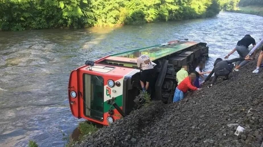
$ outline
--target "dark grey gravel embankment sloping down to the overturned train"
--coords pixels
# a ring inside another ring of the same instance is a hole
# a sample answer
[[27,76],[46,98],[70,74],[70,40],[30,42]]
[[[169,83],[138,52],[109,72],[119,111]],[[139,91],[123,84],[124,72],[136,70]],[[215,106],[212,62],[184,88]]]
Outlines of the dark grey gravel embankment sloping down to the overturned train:
[[[159,101],[104,127],[77,146],[251,146],[263,137],[263,70],[250,62],[228,81],[189,94],[182,101]],[[209,83],[209,82],[208,82]],[[238,126],[245,130],[235,135]]]

